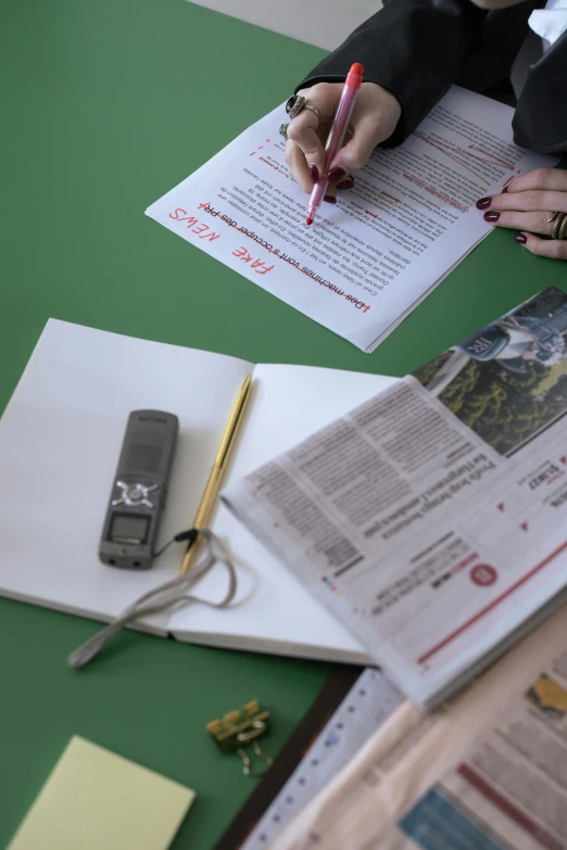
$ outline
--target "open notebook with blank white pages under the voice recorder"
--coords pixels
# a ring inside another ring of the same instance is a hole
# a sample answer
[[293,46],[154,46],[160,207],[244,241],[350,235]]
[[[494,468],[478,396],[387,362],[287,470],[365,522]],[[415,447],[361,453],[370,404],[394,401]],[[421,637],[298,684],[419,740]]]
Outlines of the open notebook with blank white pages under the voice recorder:
[[[179,572],[103,566],[99,538],[130,410],[177,414],[180,434],[161,540],[190,528],[237,392],[253,373],[227,483],[390,385],[393,379],[257,365],[50,319],[0,421],[0,594],[108,621]],[[237,563],[236,604],[191,604],[140,625],[210,646],[368,663],[367,651],[224,506],[213,522]],[[199,595],[220,598],[214,569]]]

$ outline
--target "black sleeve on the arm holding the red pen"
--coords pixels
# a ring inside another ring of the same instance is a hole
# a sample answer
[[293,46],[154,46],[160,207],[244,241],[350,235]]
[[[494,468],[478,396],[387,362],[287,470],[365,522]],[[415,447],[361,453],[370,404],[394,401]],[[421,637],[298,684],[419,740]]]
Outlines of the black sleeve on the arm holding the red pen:
[[390,0],[298,86],[343,80],[353,62],[364,79],[400,102],[402,116],[385,147],[400,144],[443,97],[481,40],[487,12],[470,0]]

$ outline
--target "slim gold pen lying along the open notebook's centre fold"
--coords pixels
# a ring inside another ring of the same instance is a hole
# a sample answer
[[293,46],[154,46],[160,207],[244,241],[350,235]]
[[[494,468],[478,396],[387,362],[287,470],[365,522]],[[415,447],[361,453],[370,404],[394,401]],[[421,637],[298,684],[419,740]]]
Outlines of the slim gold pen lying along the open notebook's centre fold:
[[[220,441],[218,452],[216,453],[211,474],[209,475],[201,502],[197,508],[197,513],[193,520],[193,529],[205,529],[209,525],[216,497],[218,496],[218,491],[220,490],[223,475],[225,473],[225,469],[230,458],[230,453],[235,445],[237,434],[244,417],[244,410],[250,398],[251,388],[252,376],[249,375],[240,388],[240,392],[238,393],[237,399],[230,413],[230,418],[225,429],[225,433],[223,434],[223,440]],[[184,555],[184,560],[181,562],[181,575],[185,575],[185,573],[191,569],[198,551],[199,541],[188,545]]]

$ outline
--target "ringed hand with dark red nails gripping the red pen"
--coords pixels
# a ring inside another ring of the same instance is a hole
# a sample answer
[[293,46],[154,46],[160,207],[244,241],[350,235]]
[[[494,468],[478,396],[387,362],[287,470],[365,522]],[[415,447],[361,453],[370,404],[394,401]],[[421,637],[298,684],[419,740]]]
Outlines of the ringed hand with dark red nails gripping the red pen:
[[[298,92],[320,114],[319,122],[314,112],[303,109],[287,130],[286,162],[305,192],[311,192],[313,183],[324,174],[323,144],[329,135],[343,88],[342,83],[317,83]],[[376,145],[392,135],[400,114],[400,104],[393,94],[376,83],[362,84],[349,126],[351,138],[329,165],[331,185],[325,200],[336,202],[335,187],[350,189],[353,186],[349,175],[362,168]]]

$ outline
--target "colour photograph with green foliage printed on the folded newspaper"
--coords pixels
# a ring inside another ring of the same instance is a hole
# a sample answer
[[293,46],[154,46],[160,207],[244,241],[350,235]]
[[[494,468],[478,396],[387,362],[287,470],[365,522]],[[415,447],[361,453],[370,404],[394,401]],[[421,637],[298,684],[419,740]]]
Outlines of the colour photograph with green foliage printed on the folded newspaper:
[[567,405],[567,300],[550,287],[414,372],[499,454],[526,445]]

